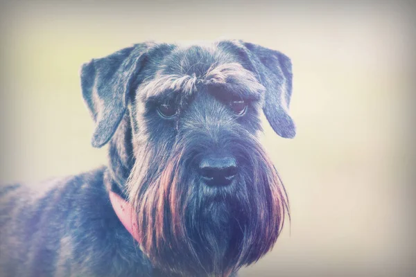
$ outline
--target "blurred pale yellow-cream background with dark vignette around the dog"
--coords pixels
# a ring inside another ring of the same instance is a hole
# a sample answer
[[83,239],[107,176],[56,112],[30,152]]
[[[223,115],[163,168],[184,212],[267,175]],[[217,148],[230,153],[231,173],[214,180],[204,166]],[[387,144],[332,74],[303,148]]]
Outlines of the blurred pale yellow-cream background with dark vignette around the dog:
[[290,3],[1,2],[0,182],[107,163],[83,62],[146,40],[244,39],[291,57],[297,136],[264,123],[292,221],[241,276],[416,276],[415,5]]

